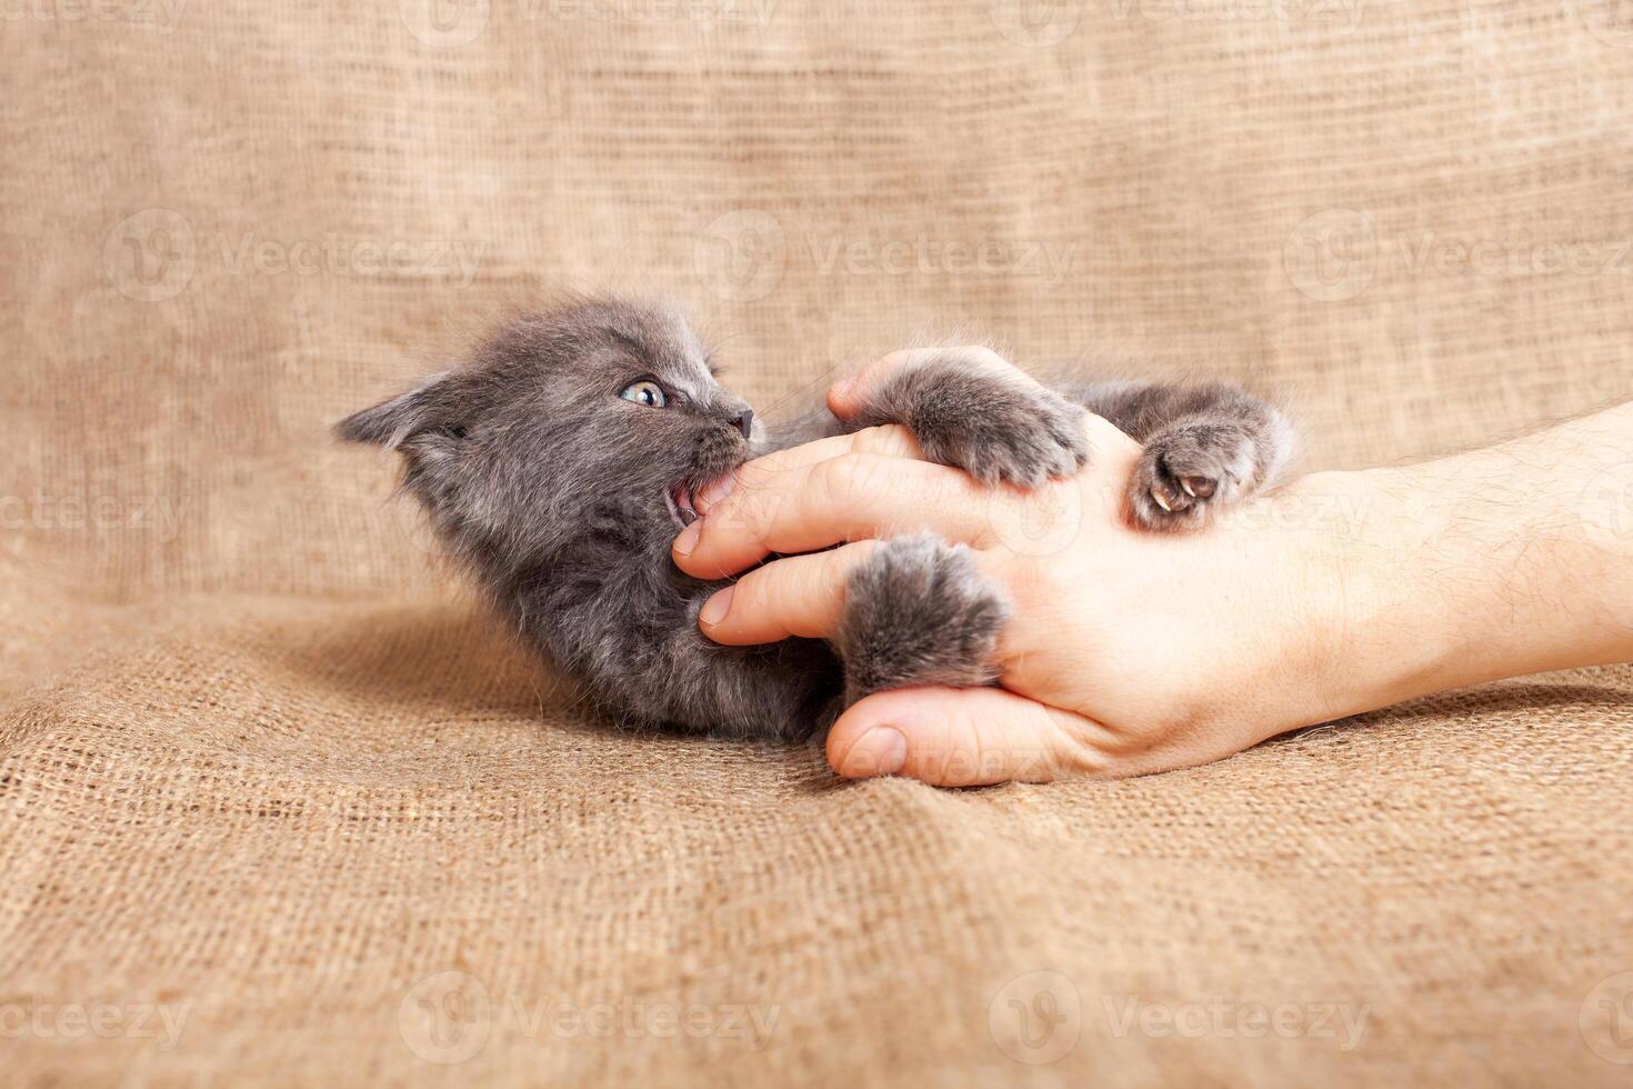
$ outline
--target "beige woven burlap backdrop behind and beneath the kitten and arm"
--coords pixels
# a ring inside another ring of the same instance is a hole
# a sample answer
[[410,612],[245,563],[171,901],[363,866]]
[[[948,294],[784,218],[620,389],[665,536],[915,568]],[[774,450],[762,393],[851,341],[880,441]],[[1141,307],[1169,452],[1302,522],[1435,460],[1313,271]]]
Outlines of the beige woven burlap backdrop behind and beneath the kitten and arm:
[[5,1081],[1633,1078],[1633,668],[844,784],[609,731],[327,433],[606,286],[771,416],[931,335],[1251,380],[1306,469],[1626,397],[1613,0],[38,0],[0,46]]

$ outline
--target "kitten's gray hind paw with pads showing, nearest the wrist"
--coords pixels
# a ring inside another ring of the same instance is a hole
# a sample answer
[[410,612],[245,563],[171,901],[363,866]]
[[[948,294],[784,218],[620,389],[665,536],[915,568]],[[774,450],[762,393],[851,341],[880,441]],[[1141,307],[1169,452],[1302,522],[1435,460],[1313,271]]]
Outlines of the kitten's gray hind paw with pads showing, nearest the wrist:
[[1264,478],[1259,444],[1236,424],[1182,424],[1153,434],[1128,488],[1145,529],[1190,529],[1246,498]]

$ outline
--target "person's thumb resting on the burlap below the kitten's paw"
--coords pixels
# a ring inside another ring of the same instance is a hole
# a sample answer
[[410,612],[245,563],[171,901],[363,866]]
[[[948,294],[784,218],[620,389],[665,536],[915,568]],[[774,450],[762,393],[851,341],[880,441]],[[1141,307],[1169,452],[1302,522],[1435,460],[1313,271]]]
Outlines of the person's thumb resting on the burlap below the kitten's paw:
[[937,787],[1106,776],[1104,727],[1004,689],[921,687],[848,707],[828,731],[846,779],[906,776]]

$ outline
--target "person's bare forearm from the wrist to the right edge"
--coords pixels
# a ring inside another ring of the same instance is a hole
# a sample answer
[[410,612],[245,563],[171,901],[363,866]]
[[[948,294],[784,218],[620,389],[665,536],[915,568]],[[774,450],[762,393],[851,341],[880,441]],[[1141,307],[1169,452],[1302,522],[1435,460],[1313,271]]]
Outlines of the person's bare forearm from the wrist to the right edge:
[[1290,501],[1347,513],[1316,534],[1334,713],[1633,660],[1633,405]]

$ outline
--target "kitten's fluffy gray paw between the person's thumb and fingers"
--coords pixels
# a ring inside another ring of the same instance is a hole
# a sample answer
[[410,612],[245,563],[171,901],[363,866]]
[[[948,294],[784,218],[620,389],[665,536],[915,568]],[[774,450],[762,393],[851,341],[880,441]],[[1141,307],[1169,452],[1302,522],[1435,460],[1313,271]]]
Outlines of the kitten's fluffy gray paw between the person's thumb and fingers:
[[967,547],[934,534],[883,542],[851,571],[833,637],[844,660],[846,705],[914,684],[991,684],[1008,619],[1008,598]]

